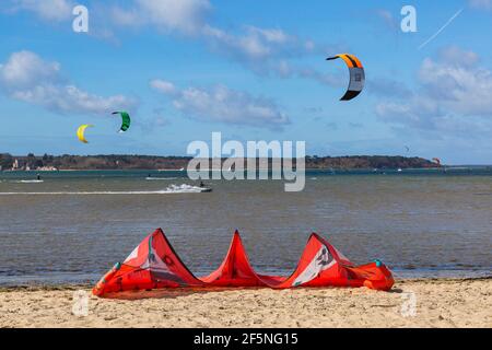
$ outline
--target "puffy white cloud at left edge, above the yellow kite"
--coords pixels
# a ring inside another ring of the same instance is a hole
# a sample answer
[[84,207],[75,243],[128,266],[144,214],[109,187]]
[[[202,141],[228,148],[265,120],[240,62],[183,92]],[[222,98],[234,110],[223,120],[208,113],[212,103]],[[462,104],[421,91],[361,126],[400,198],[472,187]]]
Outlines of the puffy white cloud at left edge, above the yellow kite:
[[134,105],[122,95],[102,97],[68,83],[58,62],[43,60],[31,51],[14,52],[0,65],[0,90],[12,98],[60,114],[104,114]]

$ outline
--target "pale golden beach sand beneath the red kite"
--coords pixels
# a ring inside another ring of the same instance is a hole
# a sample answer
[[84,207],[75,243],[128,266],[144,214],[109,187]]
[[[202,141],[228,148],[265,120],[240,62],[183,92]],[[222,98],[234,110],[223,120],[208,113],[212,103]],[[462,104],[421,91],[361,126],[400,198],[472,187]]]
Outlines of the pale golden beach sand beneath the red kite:
[[3,289],[0,327],[492,327],[492,279],[402,280],[391,292],[161,290],[125,300],[83,288],[87,316],[72,313],[78,289]]

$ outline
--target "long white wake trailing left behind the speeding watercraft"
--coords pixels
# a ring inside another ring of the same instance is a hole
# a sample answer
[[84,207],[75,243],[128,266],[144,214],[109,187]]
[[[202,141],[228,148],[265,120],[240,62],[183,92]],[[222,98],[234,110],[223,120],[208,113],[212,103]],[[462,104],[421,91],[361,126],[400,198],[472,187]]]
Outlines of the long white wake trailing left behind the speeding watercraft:
[[171,185],[163,190],[127,190],[127,191],[52,191],[52,192],[0,192],[0,196],[91,196],[91,195],[172,195],[172,194],[201,194],[209,192],[210,188],[197,187],[187,184]]

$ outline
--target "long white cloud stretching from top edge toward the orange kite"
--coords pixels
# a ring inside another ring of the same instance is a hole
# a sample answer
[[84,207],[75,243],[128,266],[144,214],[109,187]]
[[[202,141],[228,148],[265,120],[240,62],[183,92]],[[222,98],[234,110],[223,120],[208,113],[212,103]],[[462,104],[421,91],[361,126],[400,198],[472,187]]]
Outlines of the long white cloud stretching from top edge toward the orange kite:
[[224,30],[210,24],[211,11],[208,0],[133,0],[128,7],[113,5],[109,13],[117,26],[149,26],[166,34],[201,39],[212,50],[261,74],[298,77],[300,69],[291,69],[288,60],[341,49],[320,47],[311,39],[300,38],[278,27],[244,25]]

